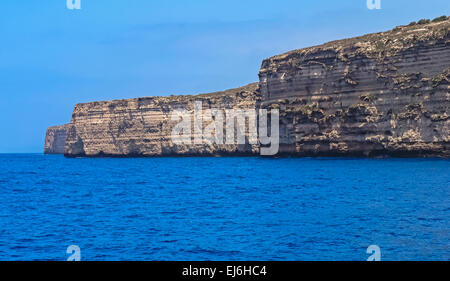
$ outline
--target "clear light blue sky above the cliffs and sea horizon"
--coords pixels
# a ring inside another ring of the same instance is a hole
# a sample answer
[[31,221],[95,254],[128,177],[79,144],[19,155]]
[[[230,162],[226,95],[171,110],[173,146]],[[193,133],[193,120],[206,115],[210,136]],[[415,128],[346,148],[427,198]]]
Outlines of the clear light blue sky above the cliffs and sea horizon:
[[285,51],[450,15],[448,0],[0,1],[0,152],[42,152],[79,102],[255,82]]

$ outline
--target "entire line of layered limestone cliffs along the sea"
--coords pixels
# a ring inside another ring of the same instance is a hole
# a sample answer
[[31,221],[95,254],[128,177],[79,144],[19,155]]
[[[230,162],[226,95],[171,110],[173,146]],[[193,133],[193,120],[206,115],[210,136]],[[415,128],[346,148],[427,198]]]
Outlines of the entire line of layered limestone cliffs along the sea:
[[258,154],[258,143],[174,143],[170,114],[193,114],[201,101],[202,109],[278,109],[278,155],[450,157],[449,26],[443,17],[294,50],[265,59],[259,83],[223,92],[78,104],[65,155]]

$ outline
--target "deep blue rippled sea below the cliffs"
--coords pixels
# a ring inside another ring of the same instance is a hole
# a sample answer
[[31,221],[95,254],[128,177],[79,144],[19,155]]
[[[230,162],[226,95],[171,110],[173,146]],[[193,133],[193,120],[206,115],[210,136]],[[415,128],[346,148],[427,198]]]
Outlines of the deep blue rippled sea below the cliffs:
[[450,161],[0,155],[0,260],[450,260]]

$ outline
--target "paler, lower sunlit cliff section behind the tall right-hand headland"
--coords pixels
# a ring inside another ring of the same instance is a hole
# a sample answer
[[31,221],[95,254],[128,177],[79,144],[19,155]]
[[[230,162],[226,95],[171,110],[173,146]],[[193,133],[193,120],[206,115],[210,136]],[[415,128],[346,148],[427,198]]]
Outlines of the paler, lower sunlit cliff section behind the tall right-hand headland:
[[[203,109],[255,109],[257,83],[223,92],[170,97],[145,97],[77,104],[68,131],[65,155],[75,156],[171,156],[252,155],[257,145],[174,144],[171,132],[178,120],[174,110],[192,114],[194,102]],[[205,124],[206,125],[206,124]],[[192,128],[192,140],[195,132]]]

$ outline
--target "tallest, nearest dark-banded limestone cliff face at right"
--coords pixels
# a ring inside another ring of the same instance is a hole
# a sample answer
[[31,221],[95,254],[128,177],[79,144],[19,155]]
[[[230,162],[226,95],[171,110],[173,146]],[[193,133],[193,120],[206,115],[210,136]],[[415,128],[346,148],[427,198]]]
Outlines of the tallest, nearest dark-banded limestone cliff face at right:
[[261,106],[280,109],[280,152],[449,157],[449,26],[400,26],[264,60]]

